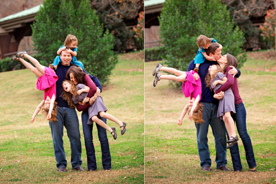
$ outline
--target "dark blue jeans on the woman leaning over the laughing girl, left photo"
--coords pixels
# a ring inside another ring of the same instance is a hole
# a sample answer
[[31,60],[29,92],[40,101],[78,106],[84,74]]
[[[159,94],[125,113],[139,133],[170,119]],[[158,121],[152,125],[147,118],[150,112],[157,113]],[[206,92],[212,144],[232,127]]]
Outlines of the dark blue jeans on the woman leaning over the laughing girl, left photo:
[[[84,143],[85,143],[85,149],[86,149],[86,155],[87,155],[87,167],[88,170],[90,169],[97,169],[97,163],[96,163],[96,156],[95,156],[95,149],[93,144],[93,124],[87,125],[88,121],[88,112],[83,111],[82,112],[82,131],[84,135]],[[106,124],[105,118],[100,118],[103,122]],[[94,123],[96,124],[96,123]],[[102,149],[102,167],[104,170],[111,169],[111,156],[109,151],[109,143],[106,135],[106,129],[102,128],[100,125],[96,124],[98,129],[98,137],[101,143],[101,149]]]

